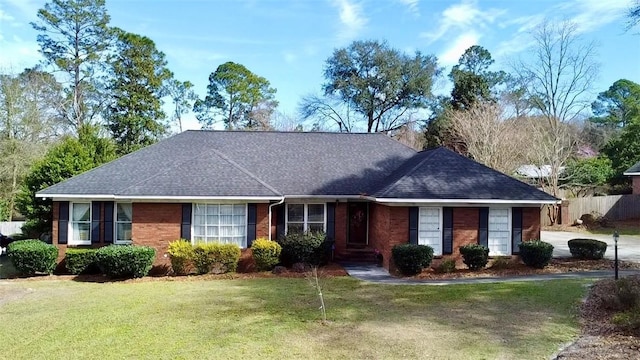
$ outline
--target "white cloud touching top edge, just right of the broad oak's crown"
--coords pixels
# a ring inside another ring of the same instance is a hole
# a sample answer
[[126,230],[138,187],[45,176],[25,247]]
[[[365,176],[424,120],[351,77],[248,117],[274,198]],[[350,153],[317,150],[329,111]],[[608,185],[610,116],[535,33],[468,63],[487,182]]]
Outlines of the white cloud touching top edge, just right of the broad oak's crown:
[[463,0],[462,2],[449,6],[442,14],[439,26],[435,31],[424,32],[422,37],[433,43],[440,40],[451,31],[469,31],[479,28],[486,28],[492,25],[498,17],[505,14],[506,10],[491,8],[481,10],[477,1]]

